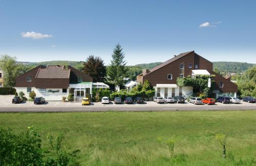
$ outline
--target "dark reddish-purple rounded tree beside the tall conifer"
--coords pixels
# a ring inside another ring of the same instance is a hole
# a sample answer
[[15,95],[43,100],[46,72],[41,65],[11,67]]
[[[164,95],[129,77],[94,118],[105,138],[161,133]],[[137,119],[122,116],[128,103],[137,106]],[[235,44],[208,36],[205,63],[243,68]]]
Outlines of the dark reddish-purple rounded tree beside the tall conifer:
[[84,62],[82,71],[93,78],[94,82],[102,82],[106,76],[106,67],[103,60],[93,55],[87,58]]

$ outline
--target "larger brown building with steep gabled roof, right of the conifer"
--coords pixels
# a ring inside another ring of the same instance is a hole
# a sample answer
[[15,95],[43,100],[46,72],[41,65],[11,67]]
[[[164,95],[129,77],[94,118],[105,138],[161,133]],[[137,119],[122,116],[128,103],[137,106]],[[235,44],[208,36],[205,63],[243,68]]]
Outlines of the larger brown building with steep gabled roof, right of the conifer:
[[236,97],[238,87],[236,84],[213,71],[213,64],[199,56],[195,51],[179,54],[174,58],[154,67],[151,70],[143,69],[137,76],[137,81],[143,82],[147,79],[155,88],[155,97],[188,97],[195,92],[194,87],[179,87],[176,80],[178,77],[195,77],[196,75],[216,75],[215,90],[212,91],[215,98],[218,96]]

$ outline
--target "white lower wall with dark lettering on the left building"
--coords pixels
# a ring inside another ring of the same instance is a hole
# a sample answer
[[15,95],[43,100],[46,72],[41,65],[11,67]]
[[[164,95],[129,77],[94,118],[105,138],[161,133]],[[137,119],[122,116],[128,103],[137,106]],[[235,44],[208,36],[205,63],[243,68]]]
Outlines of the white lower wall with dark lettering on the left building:
[[[34,87],[32,87],[31,90],[35,92],[36,97],[44,97],[47,101],[61,101],[62,96],[67,97],[69,95],[69,89],[67,89],[67,93],[62,93],[62,88],[59,88],[59,89],[47,88],[46,93],[40,93],[39,92],[40,89],[37,89]],[[48,92],[48,90],[59,90],[59,92],[51,93],[51,92]],[[27,92],[27,87],[24,87],[24,88],[17,87],[16,92],[19,93],[20,91],[23,91],[23,93],[25,93],[25,97],[29,98],[29,92]]]

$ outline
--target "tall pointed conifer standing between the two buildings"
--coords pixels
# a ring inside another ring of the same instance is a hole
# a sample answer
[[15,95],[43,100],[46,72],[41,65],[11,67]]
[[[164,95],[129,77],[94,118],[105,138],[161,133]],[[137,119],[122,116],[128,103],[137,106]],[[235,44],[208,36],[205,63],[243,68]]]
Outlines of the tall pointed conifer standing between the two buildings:
[[107,69],[107,75],[110,82],[115,86],[120,86],[125,83],[127,69],[125,68],[126,62],[124,60],[124,52],[120,44],[117,44],[112,53],[111,64]]

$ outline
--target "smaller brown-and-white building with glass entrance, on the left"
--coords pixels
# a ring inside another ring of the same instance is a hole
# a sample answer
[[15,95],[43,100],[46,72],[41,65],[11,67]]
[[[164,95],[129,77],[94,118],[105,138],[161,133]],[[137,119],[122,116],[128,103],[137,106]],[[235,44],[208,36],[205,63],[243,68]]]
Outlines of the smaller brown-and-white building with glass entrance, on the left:
[[62,96],[71,94],[74,99],[90,95],[92,77],[71,66],[39,65],[16,78],[16,92],[29,98],[34,91],[37,97],[48,101],[61,101]]

